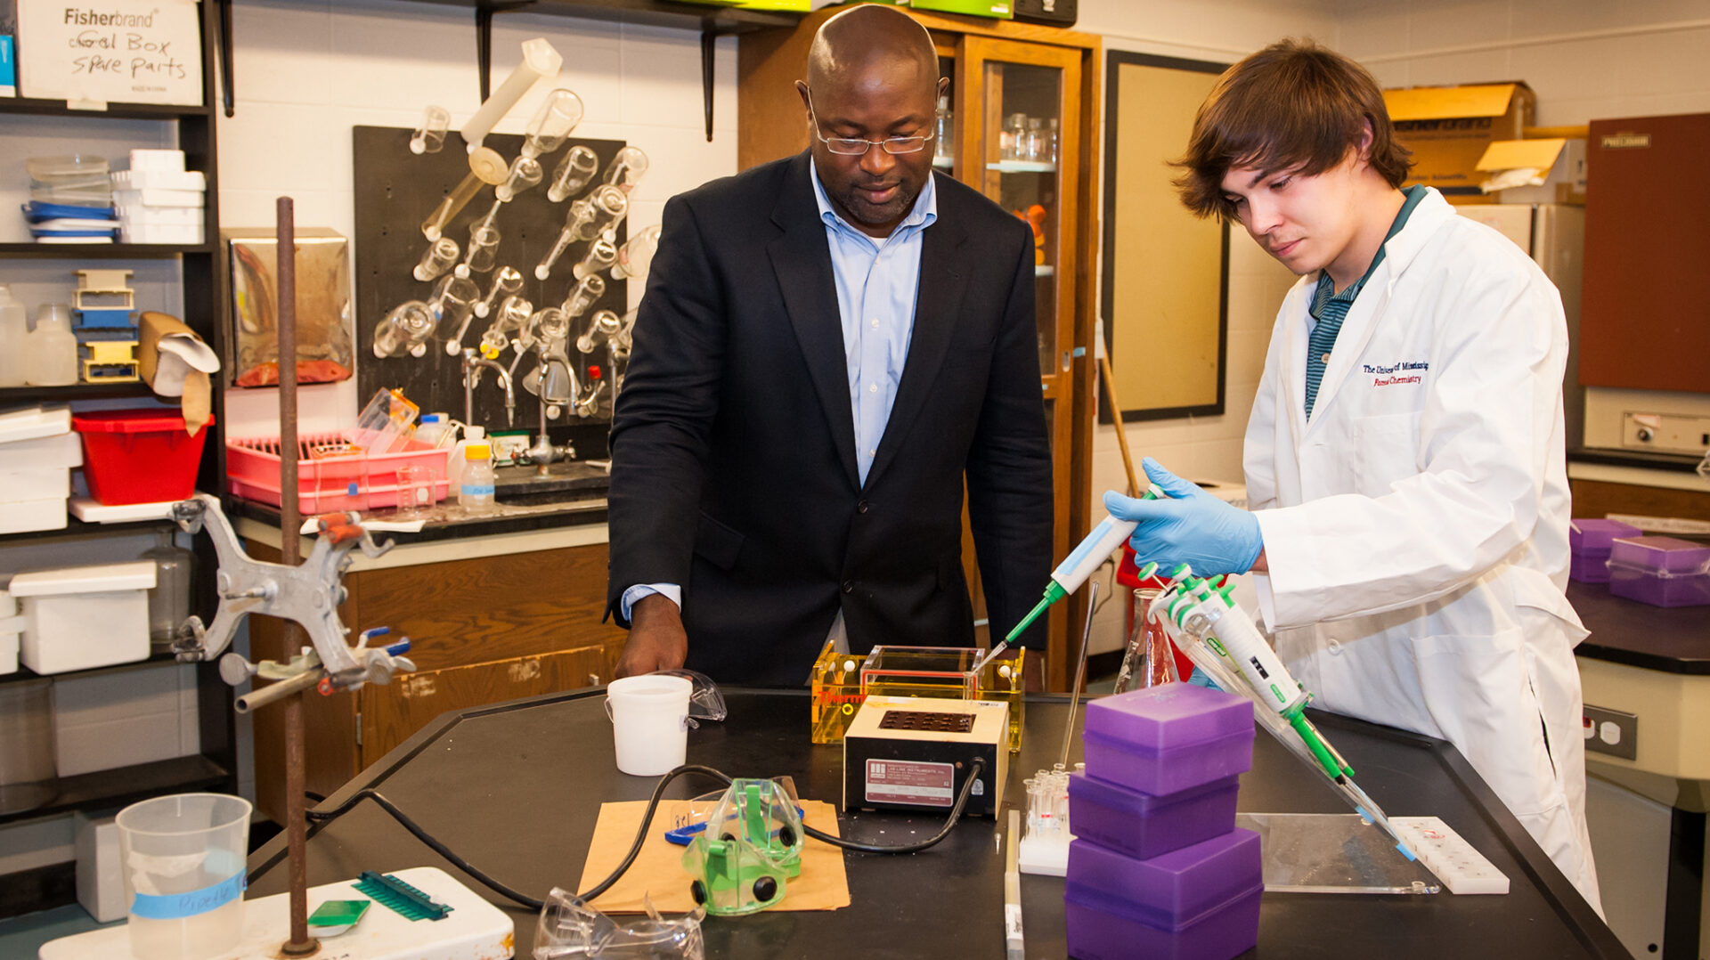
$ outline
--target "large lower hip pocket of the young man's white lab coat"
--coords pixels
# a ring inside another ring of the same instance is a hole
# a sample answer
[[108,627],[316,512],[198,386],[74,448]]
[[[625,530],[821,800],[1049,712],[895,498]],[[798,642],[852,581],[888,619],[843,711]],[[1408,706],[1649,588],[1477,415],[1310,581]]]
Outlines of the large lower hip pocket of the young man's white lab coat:
[[1561,803],[1524,645],[1525,630],[1518,626],[1416,643],[1421,696],[1440,736],[1517,816]]

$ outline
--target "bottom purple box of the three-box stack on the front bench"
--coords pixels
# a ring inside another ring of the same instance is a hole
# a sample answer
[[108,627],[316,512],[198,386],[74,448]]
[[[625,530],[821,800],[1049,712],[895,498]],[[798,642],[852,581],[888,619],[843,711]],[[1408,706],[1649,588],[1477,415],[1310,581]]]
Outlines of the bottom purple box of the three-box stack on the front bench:
[[1229,960],[1259,943],[1259,835],[1231,830],[1153,859],[1069,844],[1069,955]]

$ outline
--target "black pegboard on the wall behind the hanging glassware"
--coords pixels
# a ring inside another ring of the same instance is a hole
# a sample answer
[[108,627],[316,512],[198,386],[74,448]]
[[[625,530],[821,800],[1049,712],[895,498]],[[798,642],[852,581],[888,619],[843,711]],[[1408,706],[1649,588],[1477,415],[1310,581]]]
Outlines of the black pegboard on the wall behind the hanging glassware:
[[[409,149],[410,130],[402,127],[356,127],[352,130],[354,180],[356,180],[356,322],[357,322],[357,361],[356,385],[359,402],[368,402],[381,388],[402,388],[404,395],[416,400],[422,411],[448,411],[455,418],[463,416],[463,378],[460,361],[445,353],[443,342],[429,344],[428,356],[412,358],[376,358],[373,351],[374,325],[380,323],[393,306],[407,299],[428,299],[433,282],[417,281],[412,270],[422,252],[428,250],[428,238],[422,236],[421,222],[439,204],[439,200],[457,187],[469,173],[463,140],[455,132],[446,135],[445,147],[436,154],[412,154]],[[522,151],[523,139],[515,133],[489,133],[484,145],[492,147],[503,157],[511,159]],[[535,310],[547,305],[559,305],[576,286],[571,267],[587,253],[587,241],[573,243],[557,264],[552,276],[537,281],[535,264],[552,250],[559,231],[564,228],[564,214],[575,197],[561,204],[552,204],[545,197],[552,168],[571,145],[581,144],[600,159],[600,171],[612,156],[624,147],[624,140],[568,140],[556,152],[540,157],[547,180],[520,193],[498,217],[501,234],[498,267],[515,267],[523,276],[523,296]],[[598,178],[595,178],[595,183]],[[492,188],[482,187],[475,199],[463,207],[446,226],[445,234],[457,240],[462,248],[469,241],[469,226],[484,217],[492,205]],[[617,229],[617,243],[628,236],[628,222]],[[494,267],[494,269],[498,269]],[[486,294],[492,284],[492,274],[475,274],[472,277]],[[607,277],[605,296],[595,303],[595,310],[612,310],[619,315],[628,310],[628,282]],[[587,315],[583,315],[587,318]],[[463,346],[475,346],[487,318],[470,322],[463,335]],[[499,363],[510,366],[515,354],[506,351]],[[576,376],[590,383],[588,366],[598,366],[602,376],[610,376],[604,368],[605,353],[597,351],[592,358],[580,356],[575,347],[569,359],[576,366]],[[518,382],[535,364],[528,356],[518,364]],[[552,440],[563,443],[575,440],[578,457],[605,457],[605,433],[610,426],[610,388],[593,418],[576,418],[563,414],[551,421]],[[504,392],[494,382],[491,371],[482,375],[475,387],[475,423],[489,430],[504,430]],[[539,406],[532,394],[516,387],[516,428],[535,430],[539,423]]]

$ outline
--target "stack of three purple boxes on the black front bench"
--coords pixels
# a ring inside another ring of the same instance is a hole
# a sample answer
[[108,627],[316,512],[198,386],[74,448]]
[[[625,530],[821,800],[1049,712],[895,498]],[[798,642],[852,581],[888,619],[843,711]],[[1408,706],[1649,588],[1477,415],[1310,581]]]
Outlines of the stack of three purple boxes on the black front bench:
[[1088,703],[1069,779],[1069,955],[1228,960],[1259,943],[1259,835],[1235,828],[1253,707],[1187,683]]

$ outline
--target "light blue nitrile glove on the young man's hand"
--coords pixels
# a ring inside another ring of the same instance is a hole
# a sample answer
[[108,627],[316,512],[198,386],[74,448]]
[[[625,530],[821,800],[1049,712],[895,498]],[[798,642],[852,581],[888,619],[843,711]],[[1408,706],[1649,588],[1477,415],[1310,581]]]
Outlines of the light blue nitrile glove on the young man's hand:
[[1129,537],[1135,565],[1153,561],[1170,572],[1187,563],[1195,577],[1252,570],[1265,546],[1257,517],[1171,474],[1151,457],[1141,464],[1170,500],[1134,500],[1115,491],[1105,495],[1105,510],[1112,517],[1139,524]]

